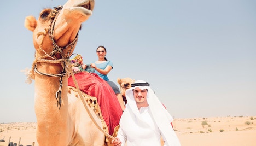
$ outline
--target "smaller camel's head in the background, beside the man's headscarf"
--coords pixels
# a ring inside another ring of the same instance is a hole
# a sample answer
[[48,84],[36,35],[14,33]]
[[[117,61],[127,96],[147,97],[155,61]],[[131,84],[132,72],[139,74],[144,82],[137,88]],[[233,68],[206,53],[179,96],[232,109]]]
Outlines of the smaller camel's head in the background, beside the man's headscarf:
[[125,103],[127,103],[127,100],[125,97],[125,91],[131,88],[131,84],[134,83],[135,80],[131,78],[123,78],[123,79],[118,78],[117,82],[120,85],[120,90],[121,90],[121,95],[123,96],[123,100],[125,101]]

